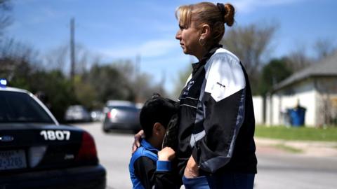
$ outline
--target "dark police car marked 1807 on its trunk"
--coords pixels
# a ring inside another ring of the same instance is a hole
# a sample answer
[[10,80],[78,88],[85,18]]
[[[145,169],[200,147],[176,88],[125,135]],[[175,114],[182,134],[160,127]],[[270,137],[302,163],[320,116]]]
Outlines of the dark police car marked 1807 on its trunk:
[[0,79],[0,188],[105,188],[91,134]]

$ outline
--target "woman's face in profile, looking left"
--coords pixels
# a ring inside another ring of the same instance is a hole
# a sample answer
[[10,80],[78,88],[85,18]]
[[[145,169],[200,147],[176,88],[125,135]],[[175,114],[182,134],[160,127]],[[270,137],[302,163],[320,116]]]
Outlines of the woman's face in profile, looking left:
[[179,30],[176,34],[176,39],[179,40],[183,52],[187,55],[198,56],[202,50],[202,46],[199,43],[200,31],[194,27],[194,22],[190,27],[184,27],[179,25]]

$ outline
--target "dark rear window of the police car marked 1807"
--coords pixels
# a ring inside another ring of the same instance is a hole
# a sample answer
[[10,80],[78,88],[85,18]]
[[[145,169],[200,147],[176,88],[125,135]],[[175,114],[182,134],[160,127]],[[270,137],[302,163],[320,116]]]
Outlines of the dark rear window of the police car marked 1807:
[[0,123],[54,123],[29,94],[0,91]]

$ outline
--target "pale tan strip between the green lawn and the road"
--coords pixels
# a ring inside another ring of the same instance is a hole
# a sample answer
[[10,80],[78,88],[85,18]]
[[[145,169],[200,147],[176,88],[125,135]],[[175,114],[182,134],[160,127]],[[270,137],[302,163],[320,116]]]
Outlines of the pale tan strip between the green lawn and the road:
[[[337,157],[337,142],[322,141],[286,141],[282,139],[265,139],[255,137],[257,153],[296,154],[311,157]],[[277,146],[286,146],[301,152],[286,151]]]

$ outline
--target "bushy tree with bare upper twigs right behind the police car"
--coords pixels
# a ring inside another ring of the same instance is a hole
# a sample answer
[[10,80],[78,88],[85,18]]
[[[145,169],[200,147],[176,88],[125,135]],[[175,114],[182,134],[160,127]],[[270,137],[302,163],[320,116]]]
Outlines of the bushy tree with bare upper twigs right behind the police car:
[[28,45],[6,38],[0,43],[0,78],[7,78],[11,87],[44,94],[44,103],[62,121],[67,106],[77,102],[70,80],[60,70],[41,67],[38,57]]

